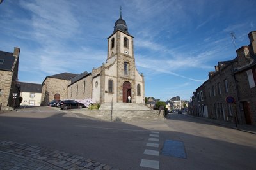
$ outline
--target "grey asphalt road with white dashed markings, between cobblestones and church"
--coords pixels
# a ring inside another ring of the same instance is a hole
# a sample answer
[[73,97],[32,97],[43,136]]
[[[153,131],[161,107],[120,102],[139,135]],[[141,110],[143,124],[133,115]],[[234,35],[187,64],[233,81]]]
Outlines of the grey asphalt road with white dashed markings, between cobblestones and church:
[[[184,144],[185,158],[163,155],[164,142],[170,140]],[[54,148],[119,169],[255,169],[256,166],[255,134],[178,114],[170,114],[163,121],[122,123],[47,107],[28,108],[0,114],[0,141]],[[153,160],[154,164],[143,164],[144,160]]]

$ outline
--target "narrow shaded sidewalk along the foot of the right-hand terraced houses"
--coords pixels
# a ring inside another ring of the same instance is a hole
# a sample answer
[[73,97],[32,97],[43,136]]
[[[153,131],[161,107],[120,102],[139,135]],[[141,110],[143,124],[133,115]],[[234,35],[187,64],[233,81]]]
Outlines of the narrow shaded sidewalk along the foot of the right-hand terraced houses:
[[220,120],[216,120],[216,119],[212,119],[212,118],[204,118],[204,117],[196,117],[193,115],[188,115],[187,113],[183,113],[182,115],[186,115],[188,117],[193,117],[193,118],[198,118],[207,122],[212,122],[213,124],[218,124],[218,125],[223,125],[225,127],[229,127],[232,129],[237,129],[239,131],[244,131],[244,132],[249,132],[252,134],[256,134],[256,126],[253,125],[241,125],[241,124],[237,124],[237,127],[235,125],[234,122],[224,122],[224,121],[220,121]]

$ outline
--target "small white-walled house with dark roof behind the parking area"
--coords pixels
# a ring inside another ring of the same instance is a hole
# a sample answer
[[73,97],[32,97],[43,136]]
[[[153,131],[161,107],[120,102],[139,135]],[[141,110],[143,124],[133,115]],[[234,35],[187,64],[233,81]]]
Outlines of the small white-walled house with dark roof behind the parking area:
[[20,85],[20,106],[40,106],[42,96],[42,85],[35,83],[18,82]]

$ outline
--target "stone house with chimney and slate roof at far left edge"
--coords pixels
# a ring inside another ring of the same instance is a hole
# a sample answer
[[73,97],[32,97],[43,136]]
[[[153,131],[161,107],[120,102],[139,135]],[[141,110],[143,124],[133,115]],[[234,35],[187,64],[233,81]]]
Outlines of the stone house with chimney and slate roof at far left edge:
[[20,48],[13,53],[0,51],[0,110],[9,110],[19,104],[17,87]]

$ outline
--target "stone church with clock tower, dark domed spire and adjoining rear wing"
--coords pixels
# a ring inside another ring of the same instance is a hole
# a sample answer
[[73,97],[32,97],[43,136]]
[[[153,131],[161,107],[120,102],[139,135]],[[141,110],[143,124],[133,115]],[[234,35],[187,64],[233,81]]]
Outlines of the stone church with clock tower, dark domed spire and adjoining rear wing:
[[108,37],[106,62],[91,73],[47,76],[42,83],[42,105],[52,99],[145,104],[145,82],[135,66],[133,38],[120,12],[114,31]]

